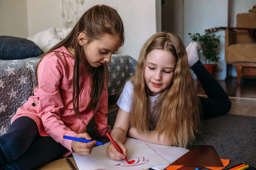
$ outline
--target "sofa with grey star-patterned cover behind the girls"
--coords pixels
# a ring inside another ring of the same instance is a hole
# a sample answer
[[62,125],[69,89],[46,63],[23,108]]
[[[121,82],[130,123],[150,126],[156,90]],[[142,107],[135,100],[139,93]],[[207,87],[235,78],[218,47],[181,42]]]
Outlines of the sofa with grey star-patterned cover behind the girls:
[[[42,55],[17,60],[0,59],[0,134],[10,127],[10,120],[17,108],[26,103],[36,87],[36,64]],[[127,78],[134,74],[136,60],[129,55],[114,54],[108,63],[109,106],[116,101]]]

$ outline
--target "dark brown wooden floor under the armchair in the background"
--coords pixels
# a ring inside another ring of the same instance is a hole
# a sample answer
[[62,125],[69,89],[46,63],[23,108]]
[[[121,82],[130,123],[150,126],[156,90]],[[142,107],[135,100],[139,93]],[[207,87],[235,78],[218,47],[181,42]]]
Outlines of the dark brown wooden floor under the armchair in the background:
[[[230,97],[244,97],[256,99],[256,79],[241,78],[241,84],[237,85],[236,78],[218,81]],[[205,94],[200,83],[197,83],[198,94]]]

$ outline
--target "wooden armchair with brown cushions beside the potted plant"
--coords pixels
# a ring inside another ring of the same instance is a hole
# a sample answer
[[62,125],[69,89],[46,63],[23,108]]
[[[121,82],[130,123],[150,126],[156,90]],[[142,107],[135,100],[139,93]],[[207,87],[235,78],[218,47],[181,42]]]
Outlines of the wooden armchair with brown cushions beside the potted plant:
[[220,29],[225,29],[225,62],[236,67],[237,83],[241,83],[241,76],[256,76],[256,6],[249,13],[237,14],[237,27],[205,31]]

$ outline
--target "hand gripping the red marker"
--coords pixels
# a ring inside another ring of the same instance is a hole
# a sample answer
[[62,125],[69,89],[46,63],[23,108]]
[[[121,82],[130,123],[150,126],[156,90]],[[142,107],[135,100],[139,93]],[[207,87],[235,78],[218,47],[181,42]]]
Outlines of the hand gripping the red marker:
[[124,144],[120,141],[115,141],[116,145],[119,146],[119,148],[122,150],[122,153],[120,153],[115,146],[113,145],[113,143],[110,142],[110,144],[108,145],[108,148],[106,149],[106,152],[108,154],[108,156],[113,159],[113,160],[123,160],[125,159],[125,156],[127,155],[127,148],[125,148]]

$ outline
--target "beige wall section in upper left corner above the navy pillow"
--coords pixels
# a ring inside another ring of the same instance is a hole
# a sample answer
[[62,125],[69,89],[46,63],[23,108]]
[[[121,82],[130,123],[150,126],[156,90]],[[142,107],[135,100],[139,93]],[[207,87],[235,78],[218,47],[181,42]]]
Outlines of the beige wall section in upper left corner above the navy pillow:
[[0,1],[0,36],[28,36],[26,0]]

